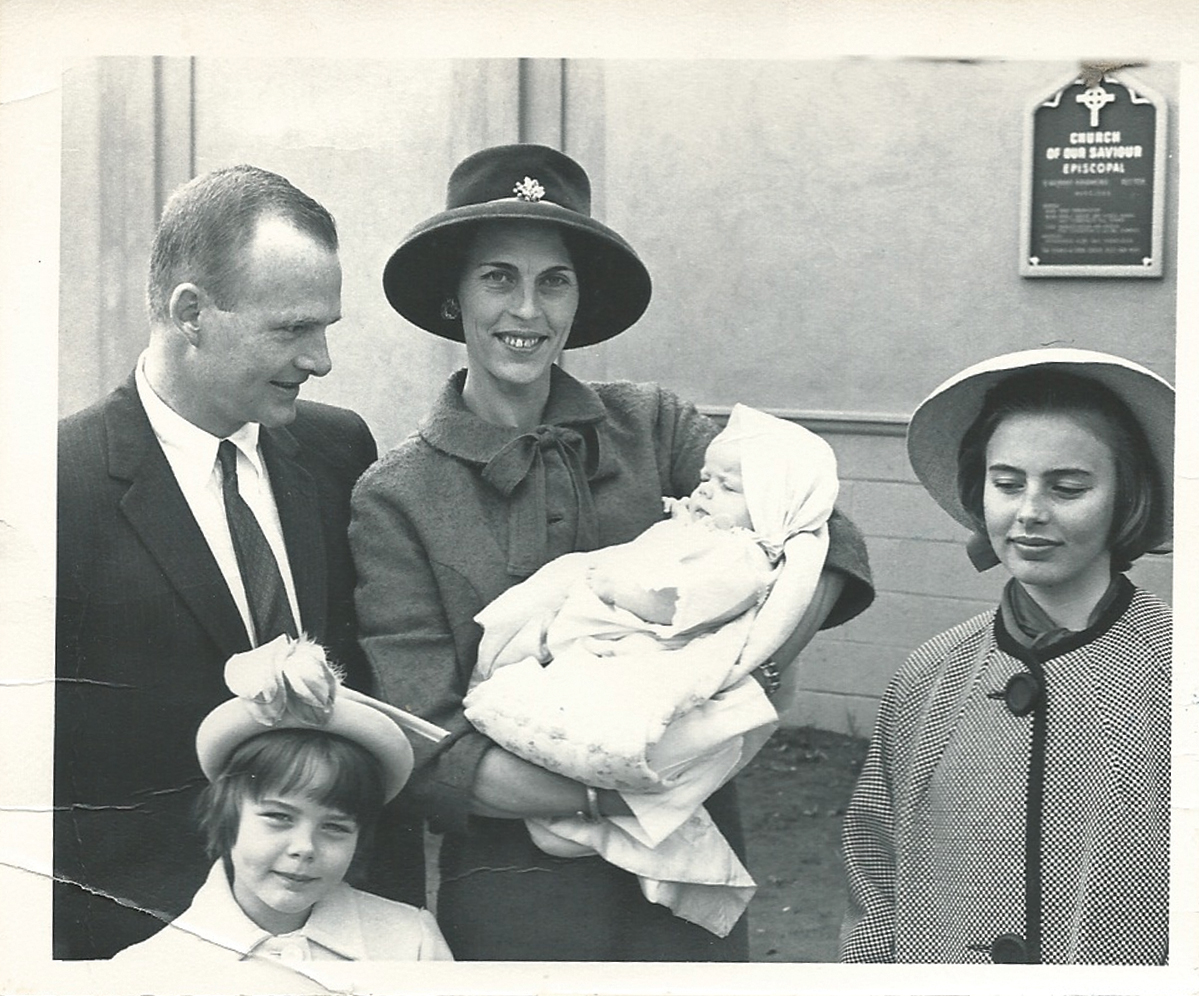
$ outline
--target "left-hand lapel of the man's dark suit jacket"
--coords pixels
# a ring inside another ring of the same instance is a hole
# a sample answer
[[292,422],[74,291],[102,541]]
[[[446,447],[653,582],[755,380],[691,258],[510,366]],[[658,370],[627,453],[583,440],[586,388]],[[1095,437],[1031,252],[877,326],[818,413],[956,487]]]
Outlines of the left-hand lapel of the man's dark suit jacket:
[[104,419],[108,471],[129,482],[121,512],[221,652],[248,650],[237,605],[150,428],[132,375],[114,392]]

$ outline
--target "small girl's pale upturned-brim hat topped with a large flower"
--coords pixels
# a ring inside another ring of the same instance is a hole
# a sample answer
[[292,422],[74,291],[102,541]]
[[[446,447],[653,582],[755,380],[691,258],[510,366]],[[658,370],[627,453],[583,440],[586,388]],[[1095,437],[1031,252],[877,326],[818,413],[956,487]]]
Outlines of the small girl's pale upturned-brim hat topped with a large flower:
[[279,636],[225,664],[225,684],[237,698],[210,712],[195,734],[195,754],[209,781],[251,737],[270,730],[320,730],[364,747],[379,761],[384,801],[404,787],[412,772],[412,746],[384,704],[341,687],[311,640]]

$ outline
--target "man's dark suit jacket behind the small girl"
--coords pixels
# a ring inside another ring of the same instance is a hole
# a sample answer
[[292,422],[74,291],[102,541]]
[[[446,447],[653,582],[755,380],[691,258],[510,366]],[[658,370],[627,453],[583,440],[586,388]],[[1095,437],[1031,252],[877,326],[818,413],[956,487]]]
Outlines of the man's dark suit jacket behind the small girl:
[[[350,489],[376,455],[370,430],[301,402],[260,445],[303,627],[348,684],[369,689],[347,526]],[[224,662],[249,644],[132,376],[60,423],[58,484],[54,952],[107,958],[204,881],[194,736],[229,698]],[[420,882],[382,891],[423,904],[422,859],[405,857]]]

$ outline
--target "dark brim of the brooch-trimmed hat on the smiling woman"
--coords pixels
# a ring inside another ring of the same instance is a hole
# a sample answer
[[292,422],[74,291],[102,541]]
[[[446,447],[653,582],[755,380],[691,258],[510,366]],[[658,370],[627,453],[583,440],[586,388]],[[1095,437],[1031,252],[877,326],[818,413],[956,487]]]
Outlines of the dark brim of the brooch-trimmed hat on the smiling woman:
[[382,271],[384,294],[392,308],[426,332],[463,342],[462,322],[442,318],[441,303],[456,290],[453,271],[462,265],[466,239],[487,221],[555,224],[568,233],[580,296],[566,349],[620,334],[649,307],[650,273],[615,231],[556,204],[513,198],[442,211],[414,228]]

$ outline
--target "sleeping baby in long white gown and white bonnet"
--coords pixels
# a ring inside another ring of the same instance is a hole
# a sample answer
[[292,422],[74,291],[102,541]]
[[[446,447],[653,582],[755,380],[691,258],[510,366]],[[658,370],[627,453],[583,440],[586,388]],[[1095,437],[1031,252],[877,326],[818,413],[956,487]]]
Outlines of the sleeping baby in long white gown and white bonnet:
[[653,901],[731,929],[753,880],[703,802],[777,723],[749,674],[811,602],[836,496],[827,443],[736,405],[699,487],[667,499],[670,518],[559,557],[480,612],[468,719],[525,760],[620,790],[634,814],[530,820],[538,846],[598,852]]

